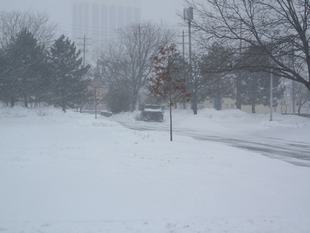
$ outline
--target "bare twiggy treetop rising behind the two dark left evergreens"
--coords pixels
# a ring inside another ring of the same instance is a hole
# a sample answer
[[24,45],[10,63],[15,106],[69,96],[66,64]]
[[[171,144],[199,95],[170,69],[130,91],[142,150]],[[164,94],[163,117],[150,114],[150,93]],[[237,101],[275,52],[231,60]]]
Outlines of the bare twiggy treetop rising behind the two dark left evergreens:
[[1,11],[0,12],[0,45],[5,47],[10,39],[18,32],[27,28],[38,40],[39,45],[51,45],[54,37],[59,32],[57,23],[51,23],[46,12],[33,10],[26,11]]

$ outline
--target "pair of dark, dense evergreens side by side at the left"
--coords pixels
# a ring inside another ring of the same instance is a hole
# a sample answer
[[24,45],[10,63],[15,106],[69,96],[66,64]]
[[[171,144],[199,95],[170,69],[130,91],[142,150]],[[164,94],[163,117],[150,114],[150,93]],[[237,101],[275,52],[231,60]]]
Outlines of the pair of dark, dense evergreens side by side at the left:
[[0,100],[14,106],[41,102],[66,108],[81,105],[88,81],[80,52],[62,35],[50,48],[23,28],[0,50]]

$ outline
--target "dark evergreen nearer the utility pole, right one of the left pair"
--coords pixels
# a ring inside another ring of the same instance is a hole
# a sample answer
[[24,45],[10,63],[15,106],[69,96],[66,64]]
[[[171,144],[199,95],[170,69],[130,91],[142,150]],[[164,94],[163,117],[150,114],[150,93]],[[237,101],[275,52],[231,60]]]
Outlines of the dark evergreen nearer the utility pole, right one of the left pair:
[[87,92],[88,80],[83,80],[90,65],[81,67],[81,51],[76,52],[74,42],[64,35],[56,39],[50,48],[50,103],[66,108],[75,108],[83,101]]

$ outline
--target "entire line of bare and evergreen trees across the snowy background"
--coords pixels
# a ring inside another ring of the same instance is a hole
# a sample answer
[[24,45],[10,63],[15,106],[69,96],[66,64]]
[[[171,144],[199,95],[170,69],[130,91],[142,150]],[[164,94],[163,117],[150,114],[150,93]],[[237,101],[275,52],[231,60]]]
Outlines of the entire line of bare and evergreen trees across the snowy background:
[[[45,102],[65,110],[90,101],[92,88],[97,94],[103,91],[102,99],[114,113],[134,111],[146,102],[175,106],[186,99],[197,114],[198,103],[220,103],[225,97],[234,99],[237,108],[251,105],[255,112],[256,105],[269,105],[271,74],[273,105],[289,87],[283,80],[294,81],[291,94],[300,106],[309,101],[308,1],[185,0],[185,5],[194,12],[191,63],[189,54],[175,46],[176,31],[147,21],[118,29],[116,40],[95,48],[92,69],[82,67],[80,52],[68,38],[51,43],[55,26],[46,14],[0,13],[1,101]],[[30,24],[14,23],[19,30],[5,26],[25,18],[32,19]],[[38,22],[41,30],[34,27]],[[83,79],[87,70],[92,82]],[[176,91],[168,101],[162,92],[167,86]],[[185,99],[177,98],[181,86]]]

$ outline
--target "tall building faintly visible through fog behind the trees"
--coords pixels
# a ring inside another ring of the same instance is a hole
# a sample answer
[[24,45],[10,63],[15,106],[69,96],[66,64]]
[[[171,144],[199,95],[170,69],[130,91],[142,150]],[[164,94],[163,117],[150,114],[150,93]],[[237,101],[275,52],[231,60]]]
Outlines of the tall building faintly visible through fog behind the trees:
[[72,0],[72,39],[92,38],[99,45],[114,39],[115,30],[140,21],[141,0]]

